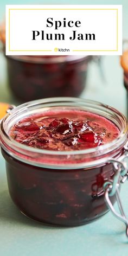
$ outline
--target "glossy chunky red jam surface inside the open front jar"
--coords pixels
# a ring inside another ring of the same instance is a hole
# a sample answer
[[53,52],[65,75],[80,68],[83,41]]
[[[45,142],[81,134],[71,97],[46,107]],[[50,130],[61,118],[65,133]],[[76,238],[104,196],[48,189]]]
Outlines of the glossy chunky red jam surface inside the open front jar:
[[24,118],[9,135],[33,148],[71,151],[111,142],[119,130],[107,118],[86,111],[43,112]]

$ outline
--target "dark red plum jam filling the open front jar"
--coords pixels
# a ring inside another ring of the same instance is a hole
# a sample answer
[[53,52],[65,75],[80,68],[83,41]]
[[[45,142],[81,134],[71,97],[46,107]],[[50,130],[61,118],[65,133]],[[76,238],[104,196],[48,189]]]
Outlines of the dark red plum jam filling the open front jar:
[[[118,128],[108,119],[75,110],[29,116],[10,130],[10,136],[22,144],[69,152],[103,145],[118,135]],[[87,169],[76,168],[74,164],[70,169],[62,158],[62,169],[54,164],[50,168],[43,164],[37,167],[15,159],[3,149],[2,153],[11,198],[21,212],[32,219],[51,225],[78,226],[108,211],[103,184],[113,178],[111,163]],[[52,155],[49,163],[51,161]]]

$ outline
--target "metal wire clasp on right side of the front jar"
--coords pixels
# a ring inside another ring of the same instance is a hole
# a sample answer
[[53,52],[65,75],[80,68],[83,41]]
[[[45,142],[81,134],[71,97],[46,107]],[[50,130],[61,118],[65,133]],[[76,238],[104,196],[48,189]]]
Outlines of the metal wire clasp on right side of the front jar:
[[[120,183],[124,183],[128,180],[128,165],[126,163],[126,159],[128,159],[128,142],[124,146],[125,154],[116,159],[109,159],[108,163],[113,164],[114,168],[114,177],[113,180],[106,181],[103,185],[105,191],[105,202],[107,207],[112,211],[113,215],[117,217],[120,221],[123,221],[126,225],[126,236],[128,238],[128,219],[124,213],[124,209],[121,203],[120,195],[119,195],[119,185]],[[118,203],[119,212],[118,213],[111,202],[111,196],[115,195]]]

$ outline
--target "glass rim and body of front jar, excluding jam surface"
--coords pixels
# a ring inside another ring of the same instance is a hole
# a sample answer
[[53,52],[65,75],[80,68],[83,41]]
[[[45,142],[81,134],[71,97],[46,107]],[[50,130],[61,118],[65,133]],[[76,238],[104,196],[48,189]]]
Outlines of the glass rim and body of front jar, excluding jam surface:
[[[9,129],[17,121],[49,110],[97,113],[116,124],[120,135],[111,143],[79,151],[32,148],[9,137]],[[108,212],[104,196],[107,200],[116,175],[115,163],[123,164],[127,133],[128,124],[123,114],[95,101],[49,98],[14,108],[2,119],[0,130],[12,200],[23,214],[50,225],[78,226],[98,219]],[[118,171],[118,178],[116,176],[118,187],[122,170]],[[112,192],[111,207],[116,201]]]

